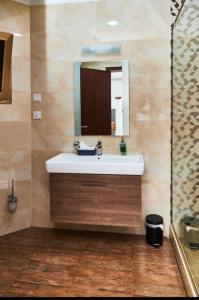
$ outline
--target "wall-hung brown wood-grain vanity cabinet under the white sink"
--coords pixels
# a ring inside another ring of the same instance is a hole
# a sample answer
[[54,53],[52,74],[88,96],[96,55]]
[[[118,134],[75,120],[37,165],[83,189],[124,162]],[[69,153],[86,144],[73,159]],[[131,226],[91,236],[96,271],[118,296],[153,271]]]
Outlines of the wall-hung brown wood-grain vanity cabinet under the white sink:
[[51,173],[50,202],[54,223],[137,227],[141,176]]

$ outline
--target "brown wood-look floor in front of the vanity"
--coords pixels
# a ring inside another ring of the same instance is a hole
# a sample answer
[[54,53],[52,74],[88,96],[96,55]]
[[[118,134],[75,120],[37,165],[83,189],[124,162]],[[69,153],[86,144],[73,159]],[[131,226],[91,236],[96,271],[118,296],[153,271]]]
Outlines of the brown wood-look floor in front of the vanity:
[[0,237],[0,296],[185,296],[169,240],[27,229]]

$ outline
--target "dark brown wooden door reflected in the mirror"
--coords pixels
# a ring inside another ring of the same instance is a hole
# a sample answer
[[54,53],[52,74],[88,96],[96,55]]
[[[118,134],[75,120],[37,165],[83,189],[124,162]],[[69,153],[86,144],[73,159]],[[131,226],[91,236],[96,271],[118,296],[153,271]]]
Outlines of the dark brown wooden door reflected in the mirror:
[[81,68],[81,135],[111,135],[111,73]]

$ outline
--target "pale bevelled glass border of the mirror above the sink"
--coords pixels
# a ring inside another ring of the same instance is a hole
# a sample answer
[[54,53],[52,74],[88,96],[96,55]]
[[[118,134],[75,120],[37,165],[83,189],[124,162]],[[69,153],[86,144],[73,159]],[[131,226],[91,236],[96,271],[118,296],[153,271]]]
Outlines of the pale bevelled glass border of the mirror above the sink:
[[[101,60],[101,62],[106,62],[108,60]],[[100,62],[100,60],[89,60],[89,61],[81,61],[74,62],[73,64],[73,103],[74,103],[74,132],[75,136],[81,136],[81,83],[80,83],[80,67],[82,63],[92,63],[92,62]],[[129,90],[129,61],[127,59],[121,60],[112,60],[112,62],[121,62],[123,69],[123,77],[126,81],[126,90],[125,94],[128,95],[128,122],[126,122],[126,131],[125,134],[121,136],[130,136],[130,90]],[[125,96],[126,96],[125,95]],[[119,137],[119,135],[110,135],[110,137]]]

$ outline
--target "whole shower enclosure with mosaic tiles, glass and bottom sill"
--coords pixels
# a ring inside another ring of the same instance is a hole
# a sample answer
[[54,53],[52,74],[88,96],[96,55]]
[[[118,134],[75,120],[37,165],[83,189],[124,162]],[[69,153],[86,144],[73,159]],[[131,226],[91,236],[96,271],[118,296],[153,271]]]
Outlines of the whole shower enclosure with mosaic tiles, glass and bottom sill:
[[199,294],[199,0],[172,26],[172,225],[189,295]]

